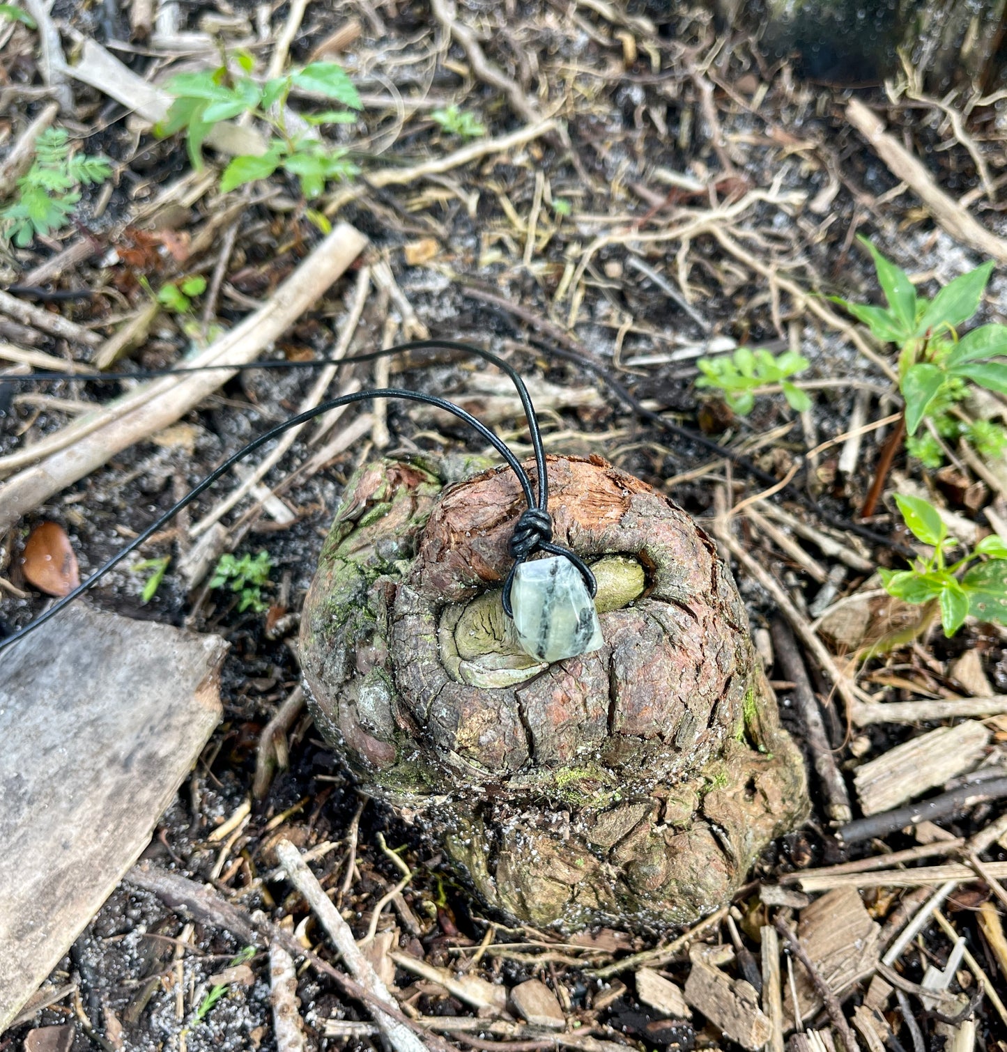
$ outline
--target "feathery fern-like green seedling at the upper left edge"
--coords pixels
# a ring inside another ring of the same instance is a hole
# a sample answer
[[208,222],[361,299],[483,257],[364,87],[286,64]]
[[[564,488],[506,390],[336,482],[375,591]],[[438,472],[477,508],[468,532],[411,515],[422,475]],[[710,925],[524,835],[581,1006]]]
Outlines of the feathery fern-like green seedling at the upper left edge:
[[46,128],[35,144],[32,167],[17,182],[17,198],[0,208],[4,238],[25,248],[36,236],[59,230],[80,201],[77,187],[104,182],[110,175],[105,158],[72,157],[65,129]]

